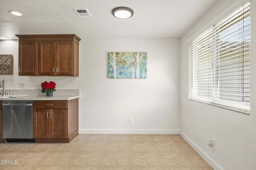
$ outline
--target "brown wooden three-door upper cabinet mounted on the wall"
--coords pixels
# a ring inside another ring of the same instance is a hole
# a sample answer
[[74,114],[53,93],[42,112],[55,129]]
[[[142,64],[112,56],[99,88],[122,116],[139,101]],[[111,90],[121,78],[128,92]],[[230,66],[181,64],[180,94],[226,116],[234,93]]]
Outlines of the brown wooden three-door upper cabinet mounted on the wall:
[[19,75],[78,76],[81,40],[74,34],[16,35]]

